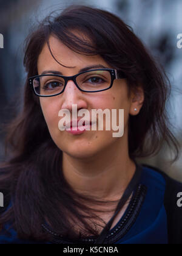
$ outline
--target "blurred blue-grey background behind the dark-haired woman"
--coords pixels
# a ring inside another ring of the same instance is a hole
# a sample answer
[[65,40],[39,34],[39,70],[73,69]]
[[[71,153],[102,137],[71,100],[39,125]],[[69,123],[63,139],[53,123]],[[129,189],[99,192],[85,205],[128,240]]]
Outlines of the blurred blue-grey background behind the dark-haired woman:
[[[166,107],[174,125],[172,131],[182,147],[182,48],[177,47],[177,35],[182,34],[181,0],[0,0],[0,34],[4,36],[4,49],[0,49],[0,126],[16,115],[18,94],[21,102],[21,88],[26,77],[23,66],[25,38],[47,14],[70,4],[101,7],[120,16],[164,66],[173,88]],[[0,162],[5,159],[3,143],[1,132]],[[181,154],[177,162],[169,165],[171,154],[164,145],[155,157],[139,161],[157,166],[182,181]]]

